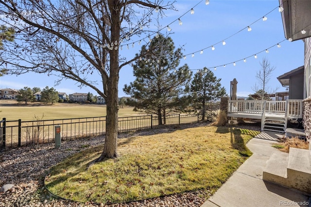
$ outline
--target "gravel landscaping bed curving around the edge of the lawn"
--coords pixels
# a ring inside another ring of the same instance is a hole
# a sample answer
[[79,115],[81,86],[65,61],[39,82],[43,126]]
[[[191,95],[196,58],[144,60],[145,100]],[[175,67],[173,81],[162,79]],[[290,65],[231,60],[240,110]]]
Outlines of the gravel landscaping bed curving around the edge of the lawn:
[[[207,125],[207,123],[195,123],[173,128],[120,134],[119,138],[165,133],[203,125]],[[260,124],[252,124],[250,122],[235,124],[234,127],[260,130]],[[207,197],[211,196],[211,192],[200,190],[126,204],[111,205],[80,204],[52,198],[48,191],[44,189],[43,184],[44,176],[49,168],[69,155],[86,149],[86,146],[93,147],[102,143],[104,143],[104,136],[63,141],[62,146],[58,149],[54,148],[54,143],[48,143],[38,145],[37,149],[20,147],[2,152],[0,154],[0,187],[2,187],[0,192],[0,207],[199,207],[205,202]],[[6,184],[13,184],[14,186],[10,190],[5,191],[3,187],[6,187]]]

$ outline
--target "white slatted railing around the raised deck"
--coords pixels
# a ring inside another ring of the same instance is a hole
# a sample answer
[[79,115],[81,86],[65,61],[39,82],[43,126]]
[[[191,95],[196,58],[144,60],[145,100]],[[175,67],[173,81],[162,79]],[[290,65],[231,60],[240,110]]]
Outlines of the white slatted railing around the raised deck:
[[287,117],[302,118],[302,100],[264,101],[231,100],[228,101],[228,113],[262,114],[286,113]]

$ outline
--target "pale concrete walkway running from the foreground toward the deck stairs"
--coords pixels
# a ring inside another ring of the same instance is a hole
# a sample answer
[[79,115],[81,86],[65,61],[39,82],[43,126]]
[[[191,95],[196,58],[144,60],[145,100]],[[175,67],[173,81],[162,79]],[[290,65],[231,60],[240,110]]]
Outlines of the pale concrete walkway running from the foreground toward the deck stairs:
[[201,207],[311,207],[310,197],[262,180],[266,162],[279,152],[271,144],[280,137],[262,132],[251,139],[246,146],[253,155]]

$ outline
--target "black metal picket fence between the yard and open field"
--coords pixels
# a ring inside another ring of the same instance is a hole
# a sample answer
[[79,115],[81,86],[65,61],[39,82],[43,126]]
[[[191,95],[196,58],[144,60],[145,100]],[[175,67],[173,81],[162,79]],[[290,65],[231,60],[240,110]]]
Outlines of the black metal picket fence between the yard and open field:
[[[172,114],[162,118],[159,125],[157,116],[145,115],[135,117],[120,117],[118,131],[145,130],[168,127],[178,124],[194,123],[199,121],[198,114]],[[105,134],[106,117],[88,117],[59,120],[34,120],[34,121],[0,121],[1,150],[5,146],[35,145],[38,143],[53,142],[55,126],[61,128],[62,140],[88,138]]]

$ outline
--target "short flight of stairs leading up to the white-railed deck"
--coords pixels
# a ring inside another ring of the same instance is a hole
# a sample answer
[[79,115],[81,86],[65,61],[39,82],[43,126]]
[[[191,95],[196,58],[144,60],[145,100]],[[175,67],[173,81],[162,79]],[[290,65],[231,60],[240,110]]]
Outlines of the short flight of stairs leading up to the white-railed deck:
[[264,124],[263,124],[263,131],[272,131],[272,132],[279,132],[285,133],[287,126],[287,119],[281,116],[268,116],[264,117]]

